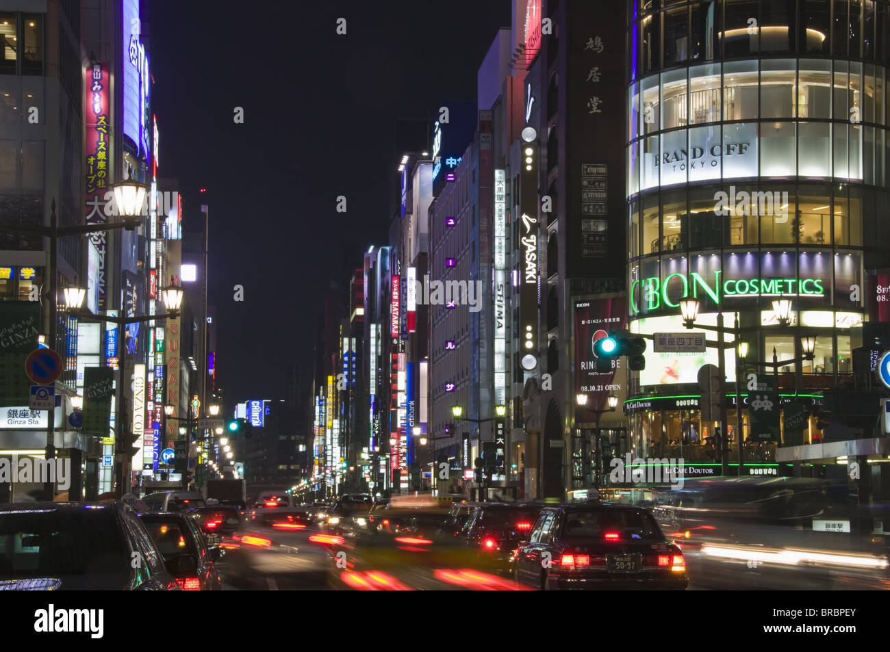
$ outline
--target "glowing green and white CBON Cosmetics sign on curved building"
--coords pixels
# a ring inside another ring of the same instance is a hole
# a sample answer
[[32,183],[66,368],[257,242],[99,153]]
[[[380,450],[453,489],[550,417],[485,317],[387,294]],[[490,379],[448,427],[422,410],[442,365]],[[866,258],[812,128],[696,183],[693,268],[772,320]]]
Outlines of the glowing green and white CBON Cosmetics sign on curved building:
[[[667,308],[678,308],[679,299],[692,294],[695,299],[708,296],[720,304],[725,297],[757,296],[823,296],[825,287],[821,278],[727,278],[721,281],[723,270],[715,270],[712,282],[708,282],[698,272],[688,277],[682,273],[670,274],[662,282],[659,277],[637,279],[630,286],[630,310],[635,315],[643,310],[658,310],[664,304]],[[677,292],[680,294],[678,295]],[[679,297],[674,302],[671,299]]]

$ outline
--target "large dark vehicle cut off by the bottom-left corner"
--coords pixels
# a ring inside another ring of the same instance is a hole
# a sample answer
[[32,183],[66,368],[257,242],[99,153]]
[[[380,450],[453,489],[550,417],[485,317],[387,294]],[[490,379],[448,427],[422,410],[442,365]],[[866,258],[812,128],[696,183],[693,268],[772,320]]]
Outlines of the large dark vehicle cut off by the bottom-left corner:
[[0,591],[180,591],[129,505],[0,504]]

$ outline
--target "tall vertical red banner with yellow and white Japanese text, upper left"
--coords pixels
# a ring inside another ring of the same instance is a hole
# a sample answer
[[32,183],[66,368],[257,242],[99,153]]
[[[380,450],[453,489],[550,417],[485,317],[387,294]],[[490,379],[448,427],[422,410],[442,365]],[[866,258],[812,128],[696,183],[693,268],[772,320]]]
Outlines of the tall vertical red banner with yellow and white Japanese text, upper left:
[[[105,193],[109,181],[109,65],[96,61],[86,70],[85,79],[86,140],[85,140],[85,216],[87,224],[104,224],[108,216],[104,213]],[[108,231],[90,234],[90,241],[99,252],[99,310],[105,310],[108,301],[108,286],[105,278],[105,251],[108,244]]]

